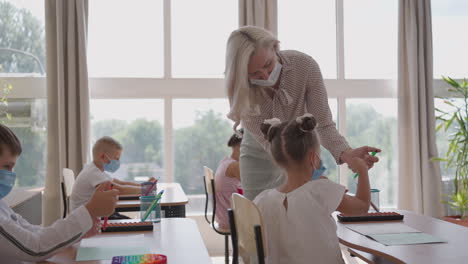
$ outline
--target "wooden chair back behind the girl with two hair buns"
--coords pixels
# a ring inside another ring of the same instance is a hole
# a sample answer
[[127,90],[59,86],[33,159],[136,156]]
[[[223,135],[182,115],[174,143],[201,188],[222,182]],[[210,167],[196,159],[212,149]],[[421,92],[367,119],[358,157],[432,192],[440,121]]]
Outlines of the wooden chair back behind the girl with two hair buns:
[[262,234],[263,220],[257,206],[244,196],[234,193],[228,209],[231,239],[233,245],[233,264],[239,263],[239,251],[245,257],[257,256],[258,263],[265,263],[267,250]]

